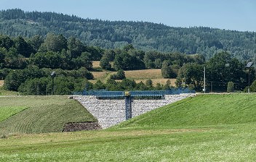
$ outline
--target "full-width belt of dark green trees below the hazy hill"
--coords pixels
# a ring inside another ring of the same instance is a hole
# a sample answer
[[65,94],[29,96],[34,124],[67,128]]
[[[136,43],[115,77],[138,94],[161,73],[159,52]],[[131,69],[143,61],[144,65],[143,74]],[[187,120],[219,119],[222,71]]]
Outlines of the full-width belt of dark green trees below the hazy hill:
[[[100,69],[92,67],[92,61],[100,61]],[[104,49],[87,46],[77,38],[48,33],[46,38],[35,35],[32,38],[17,36],[10,38],[0,35],[0,80],[4,88],[19,91],[23,95],[65,95],[87,89],[106,90],[167,90],[166,85],[153,87],[152,81],[136,83],[127,80],[124,70],[161,69],[164,78],[177,78],[178,88],[202,90],[203,67],[207,69],[207,86],[215,90],[244,90],[249,79],[255,80],[255,68],[223,51],[208,61],[199,54],[179,52],[163,53],[142,51],[132,44],[123,48]],[[97,80],[90,83],[94,76],[91,71],[110,70],[116,74],[105,82]],[[52,89],[50,74],[55,72],[55,88]],[[247,77],[248,76],[248,77]],[[116,82],[116,80],[122,80]],[[209,85],[211,84],[211,85]],[[228,84],[230,86],[228,86]],[[252,83],[255,85],[256,82]],[[208,89],[209,91],[209,89]]]

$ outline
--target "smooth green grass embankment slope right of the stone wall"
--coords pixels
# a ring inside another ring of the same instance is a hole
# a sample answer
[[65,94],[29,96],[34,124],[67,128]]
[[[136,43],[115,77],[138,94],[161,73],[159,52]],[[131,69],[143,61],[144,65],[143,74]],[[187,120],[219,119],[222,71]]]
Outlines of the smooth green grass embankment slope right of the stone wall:
[[255,94],[198,95],[119,124],[116,128],[184,128],[256,121]]

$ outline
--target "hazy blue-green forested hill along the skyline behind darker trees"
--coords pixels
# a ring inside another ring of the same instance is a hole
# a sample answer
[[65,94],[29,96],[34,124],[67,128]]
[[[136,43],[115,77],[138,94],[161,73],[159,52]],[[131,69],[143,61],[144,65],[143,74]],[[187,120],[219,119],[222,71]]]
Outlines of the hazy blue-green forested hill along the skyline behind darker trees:
[[241,60],[255,59],[256,33],[220,30],[210,27],[169,27],[151,22],[125,22],[82,19],[54,12],[0,12],[0,34],[9,36],[63,34],[89,46],[120,48],[132,43],[143,51],[180,51],[203,54],[207,59],[217,51],[229,51]]

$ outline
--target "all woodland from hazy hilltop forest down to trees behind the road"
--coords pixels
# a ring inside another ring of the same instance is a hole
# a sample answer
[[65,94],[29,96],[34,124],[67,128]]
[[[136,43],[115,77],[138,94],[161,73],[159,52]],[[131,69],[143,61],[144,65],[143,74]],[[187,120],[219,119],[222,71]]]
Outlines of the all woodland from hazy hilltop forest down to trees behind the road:
[[[0,80],[4,88],[23,95],[65,95],[87,89],[166,90],[152,81],[136,83],[124,70],[161,69],[176,86],[201,91],[203,69],[207,91],[256,91],[256,33],[209,27],[168,27],[150,22],[109,22],[52,12],[0,12]],[[94,76],[116,71],[105,82]],[[55,72],[55,88],[51,72]],[[122,80],[116,82],[116,80]]]

